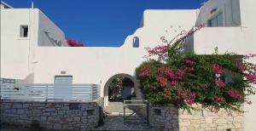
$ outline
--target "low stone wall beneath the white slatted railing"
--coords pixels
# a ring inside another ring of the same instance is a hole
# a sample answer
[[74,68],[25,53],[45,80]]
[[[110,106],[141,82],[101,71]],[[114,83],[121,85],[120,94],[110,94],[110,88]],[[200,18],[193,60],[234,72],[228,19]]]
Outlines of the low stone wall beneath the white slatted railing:
[[57,130],[90,130],[98,125],[103,100],[94,102],[1,101],[1,124]]

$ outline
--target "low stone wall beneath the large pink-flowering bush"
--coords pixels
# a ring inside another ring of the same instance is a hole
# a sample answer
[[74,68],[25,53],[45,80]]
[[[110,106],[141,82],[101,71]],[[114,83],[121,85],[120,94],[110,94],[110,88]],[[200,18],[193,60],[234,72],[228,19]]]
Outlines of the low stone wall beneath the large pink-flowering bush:
[[158,130],[180,131],[240,131],[243,130],[243,115],[220,110],[177,110],[174,105],[149,105],[149,123]]

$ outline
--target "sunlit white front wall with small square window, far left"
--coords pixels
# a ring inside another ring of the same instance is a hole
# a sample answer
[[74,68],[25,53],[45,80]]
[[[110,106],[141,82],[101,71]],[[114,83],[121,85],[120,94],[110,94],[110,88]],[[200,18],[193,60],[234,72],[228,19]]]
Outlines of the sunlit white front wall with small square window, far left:
[[[32,83],[35,19],[32,9],[1,9],[1,77]],[[20,37],[21,25],[28,26],[28,37]]]

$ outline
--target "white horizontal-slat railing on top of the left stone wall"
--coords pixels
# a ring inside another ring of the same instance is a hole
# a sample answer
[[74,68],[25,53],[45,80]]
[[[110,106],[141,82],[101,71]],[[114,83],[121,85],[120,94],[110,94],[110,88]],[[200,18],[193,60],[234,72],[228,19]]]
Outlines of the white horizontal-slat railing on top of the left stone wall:
[[61,87],[45,83],[1,83],[1,100],[93,101],[100,97],[100,86],[96,84],[71,84]]

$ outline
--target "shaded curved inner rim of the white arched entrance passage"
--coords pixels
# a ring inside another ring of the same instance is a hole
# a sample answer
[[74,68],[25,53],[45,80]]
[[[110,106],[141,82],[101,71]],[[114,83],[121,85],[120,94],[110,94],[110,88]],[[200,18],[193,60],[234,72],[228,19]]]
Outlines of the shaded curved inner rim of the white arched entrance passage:
[[113,77],[110,77],[104,86],[104,105],[108,105],[108,88],[109,88],[110,84],[113,82],[113,80],[118,77],[125,77],[125,78],[130,79],[133,82],[134,93],[136,94],[136,100],[143,99],[142,93],[141,93],[140,89],[138,88],[139,83],[135,77],[132,77],[131,75],[128,75],[128,74],[116,74]]

